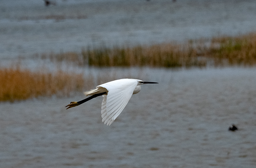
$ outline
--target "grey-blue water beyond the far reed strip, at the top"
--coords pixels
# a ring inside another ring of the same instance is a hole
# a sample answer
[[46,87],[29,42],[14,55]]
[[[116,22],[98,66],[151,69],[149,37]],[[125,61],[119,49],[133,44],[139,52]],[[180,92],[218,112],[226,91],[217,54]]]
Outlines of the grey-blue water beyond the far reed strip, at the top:
[[0,58],[239,35],[256,30],[253,0],[0,1]]

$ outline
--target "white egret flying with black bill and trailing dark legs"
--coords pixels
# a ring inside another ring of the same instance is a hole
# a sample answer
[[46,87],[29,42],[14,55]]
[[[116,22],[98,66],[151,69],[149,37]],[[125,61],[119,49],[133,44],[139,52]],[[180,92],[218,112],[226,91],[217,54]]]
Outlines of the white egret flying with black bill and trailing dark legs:
[[[78,102],[70,102],[66,107],[71,108],[82,103],[103,96],[101,104],[101,117],[104,124],[110,125],[116,117],[123,111],[128,101],[131,99],[132,94],[140,91],[142,84],[158,84],[156,82],[144,82],[139,79],[118,79],[105,84],[96,86],[96,89],[85,91],[86,96],[89,98]],[[68,109],[67,108],[67,109]]]

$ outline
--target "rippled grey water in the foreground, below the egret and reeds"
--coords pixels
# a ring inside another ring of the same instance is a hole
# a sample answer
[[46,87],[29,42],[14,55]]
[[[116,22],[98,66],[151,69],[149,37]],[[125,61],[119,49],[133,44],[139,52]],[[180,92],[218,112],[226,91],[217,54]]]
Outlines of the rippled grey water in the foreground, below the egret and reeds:
[[101,97],[68,110],[84,96],[1,103],[0,167],[255,167],[255,74],[144,69],[159,84],[143,85],[110,126]]

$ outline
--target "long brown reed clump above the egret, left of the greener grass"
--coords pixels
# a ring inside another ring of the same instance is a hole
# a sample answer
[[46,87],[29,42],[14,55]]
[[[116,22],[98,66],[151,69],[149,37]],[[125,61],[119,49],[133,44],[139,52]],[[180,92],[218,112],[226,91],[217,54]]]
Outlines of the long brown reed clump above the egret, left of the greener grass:
[[[136,47],[101,47],[82,53],[89,66],[190,67],[204,64],[197,60],[190,45],[160,44]],[[84,61],[86,62],[86,61]]]

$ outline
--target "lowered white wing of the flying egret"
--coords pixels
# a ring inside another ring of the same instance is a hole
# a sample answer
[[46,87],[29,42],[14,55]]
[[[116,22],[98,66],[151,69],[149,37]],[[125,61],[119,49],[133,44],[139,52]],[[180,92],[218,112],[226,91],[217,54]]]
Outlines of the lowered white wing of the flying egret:
[[104,124],[110,125],[123,111],[138,82],[129,79],[119,79],[99,85],[108,90],[108,95],[102,95],[101,117]]

